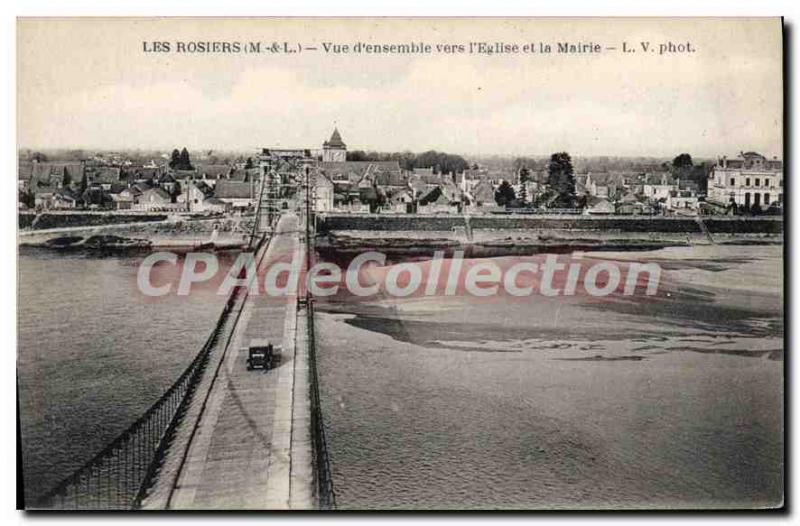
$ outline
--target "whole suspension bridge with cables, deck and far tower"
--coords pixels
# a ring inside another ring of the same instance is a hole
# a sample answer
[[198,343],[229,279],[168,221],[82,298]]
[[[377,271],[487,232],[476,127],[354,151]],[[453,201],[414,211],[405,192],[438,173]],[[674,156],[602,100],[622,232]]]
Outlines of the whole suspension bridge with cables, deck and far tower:
[[[262,158],[262,168],[250,239],[257,274],[288,255],[309,265],[315,163],[307,151],[281,150]],[[292,191],[295,206],[284,209],[279,202]],[[234,288],[205,345],[141,417],[27,507],[335,508],[313,301],[249,290]],[[254,340],[280,347],[266,371],[246,365]]]

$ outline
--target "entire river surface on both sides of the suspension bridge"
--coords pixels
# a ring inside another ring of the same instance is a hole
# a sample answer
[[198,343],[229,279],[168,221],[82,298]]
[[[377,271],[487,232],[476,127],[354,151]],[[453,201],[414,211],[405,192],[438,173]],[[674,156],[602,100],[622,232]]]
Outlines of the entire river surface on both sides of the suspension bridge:
[[[656,298],[319,302],[343,509],[758,507],[783,487],[782,247],[657,261]],[[26,493],[151,405],[224,302],[136,294],[139,258],[21,250]]]

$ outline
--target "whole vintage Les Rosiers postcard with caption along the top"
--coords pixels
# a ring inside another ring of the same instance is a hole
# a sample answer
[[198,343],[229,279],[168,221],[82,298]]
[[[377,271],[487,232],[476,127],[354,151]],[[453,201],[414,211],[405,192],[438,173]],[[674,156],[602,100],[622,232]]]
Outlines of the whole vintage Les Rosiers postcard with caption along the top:
[[784,505],[779,18],[20,18],[26,509]]

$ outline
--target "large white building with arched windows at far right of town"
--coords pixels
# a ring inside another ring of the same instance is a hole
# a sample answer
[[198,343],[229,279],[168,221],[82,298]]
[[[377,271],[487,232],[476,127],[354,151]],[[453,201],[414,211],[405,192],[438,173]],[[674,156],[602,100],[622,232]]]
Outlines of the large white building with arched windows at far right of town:
[[735,159],[722,157],[708,179],[708,198],[727,206],[758,205],[767,208],[783,202],[783,162],[756,152],[740,153]]

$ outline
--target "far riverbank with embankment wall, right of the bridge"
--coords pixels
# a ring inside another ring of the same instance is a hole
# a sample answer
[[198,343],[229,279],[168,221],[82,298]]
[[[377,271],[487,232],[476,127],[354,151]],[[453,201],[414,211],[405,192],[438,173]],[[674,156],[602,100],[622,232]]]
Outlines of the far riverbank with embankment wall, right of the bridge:
[[473,257],[579,250],[656,250],[695,245],[780,245],[780,217],[456,216],[320,214],[319,251]]

